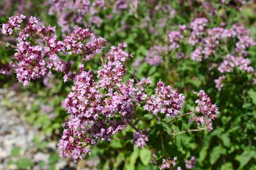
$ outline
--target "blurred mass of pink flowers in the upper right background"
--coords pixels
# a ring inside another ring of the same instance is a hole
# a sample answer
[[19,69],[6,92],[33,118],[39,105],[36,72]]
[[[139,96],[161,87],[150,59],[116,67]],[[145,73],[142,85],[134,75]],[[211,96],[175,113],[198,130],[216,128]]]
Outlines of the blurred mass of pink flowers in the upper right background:
[[[254,73],[255,70],[250,66],[250,60],[245,58],[248,55],[247,49],[256,45],[256,42],[250,36],[250,31],[240,23],[234,24],[232,28],[228,29],[224,28],[225,24],[223,23],[221,24],[221,27],[207,28],[208,22],[208,19],[202,17],[196,18],[190,23],[189,28],[191,32],[189,34],[188,43],[194,47],[194,51],[190,54],[190,58],[194,61],[202,61],[203,59],[217,56],[214,58],[217,60],[219,58],[218,55],[215,55],[216,52],[222,51],[227,53],[227,57],[220,64],[215,62],[211,63],[214,67],[209,68],[209,70],[218,68],[220,73],[226,73],[233,72],[234,68],[238,68],[240,70],[245,70],[247,73]],[[170,49],[179,48],[181,43],[183,43],[179,42],[179,40],[184,37],[183,33],[187,32],[187,27],[185,25],[179,25],[179,30],[180,31],[172,31],[168,34],[171,42]],[[235,44],[233,52],[231,52],[230,48],[227,46],[229,42]],[[168,49],[165,49],[165,51],[168,51]],[[163,51],[161,52],[163,53]],[[178,58],[183,58],[183,51],[176,52]],[[146,59],[147,58],[148,57],[146,57]],[[154,64],[152,61],[149,62]],[[161,62],[163,62],[163,59]],[[225,79],[224,77],[226,77],[226,75],[220,76],[215,80],[216,88],[218,88],[218,90],[223,86],[222,82]]]

